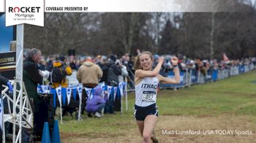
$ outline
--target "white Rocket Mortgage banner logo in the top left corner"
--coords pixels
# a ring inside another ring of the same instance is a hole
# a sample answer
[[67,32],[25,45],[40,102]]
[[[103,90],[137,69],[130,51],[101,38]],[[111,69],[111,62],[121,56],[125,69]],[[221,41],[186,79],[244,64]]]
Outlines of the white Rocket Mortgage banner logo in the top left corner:
[[5,4],[6,26],[44,26],[44,0],[6,0]]

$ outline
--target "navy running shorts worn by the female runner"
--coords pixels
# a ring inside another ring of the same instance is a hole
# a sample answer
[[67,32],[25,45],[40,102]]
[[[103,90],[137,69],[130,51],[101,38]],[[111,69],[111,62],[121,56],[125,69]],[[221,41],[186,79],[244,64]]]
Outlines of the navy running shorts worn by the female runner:
[[148,107],[139,107],[135,105],[134,115],[136,120],[145,120],[148,115],[155,115],[158,117],[158,107],[156,104],[151,104]]

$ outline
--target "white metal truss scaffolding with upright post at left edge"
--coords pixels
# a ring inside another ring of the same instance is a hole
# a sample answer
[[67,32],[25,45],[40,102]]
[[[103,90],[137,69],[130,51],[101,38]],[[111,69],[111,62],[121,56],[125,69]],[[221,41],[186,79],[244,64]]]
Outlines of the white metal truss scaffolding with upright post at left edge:
[[[4,86],[1,92],[4,104],[2,106],[3,117],[3,142],[6,141],[4,123],[12,124],[12,142],[22,142],[23,128],[33,128],[33,111],[29,102],[29,96],[23,83],[23,31],[24,25],[17,26],[16,70],[15,80],[12,81],[13,93],[9,93]],[[3,102],[2,102],[3,103]],[[5,108],[4,108],[5,107]]]

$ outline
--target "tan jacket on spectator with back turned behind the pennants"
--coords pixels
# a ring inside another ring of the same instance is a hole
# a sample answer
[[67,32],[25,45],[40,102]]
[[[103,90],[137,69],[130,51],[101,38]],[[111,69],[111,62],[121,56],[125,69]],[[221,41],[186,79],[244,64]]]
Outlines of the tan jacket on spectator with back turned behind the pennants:
[[99,84],[99,79],[102,77],[102,69],[91,61],[83,62],[77,73],[78,82],[83,84]]

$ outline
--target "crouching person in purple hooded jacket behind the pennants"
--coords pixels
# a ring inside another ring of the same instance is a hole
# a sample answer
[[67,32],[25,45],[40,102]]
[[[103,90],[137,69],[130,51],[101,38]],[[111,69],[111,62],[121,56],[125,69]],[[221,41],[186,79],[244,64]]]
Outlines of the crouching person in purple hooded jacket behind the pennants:
[[105,100],[102,98],[102,88],[97,86],[94,88],[94,94],[86,101],[86,112],[89,117],[101,117],[101,113],[105,107]]

